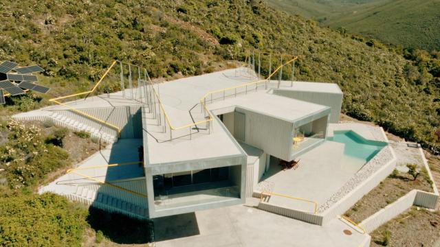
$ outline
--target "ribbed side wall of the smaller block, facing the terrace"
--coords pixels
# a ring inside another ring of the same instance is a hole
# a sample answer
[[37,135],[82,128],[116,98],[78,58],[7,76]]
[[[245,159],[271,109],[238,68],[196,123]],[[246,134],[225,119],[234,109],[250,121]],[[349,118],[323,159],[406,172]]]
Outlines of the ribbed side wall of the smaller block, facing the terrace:
[[[244,135],[243,143],[264,150],[276,158],[289,161],[294,128],[292,123],[242,108],[236,108],[235,111],[245,115],[245,132],[239,133],[243,128],[235,128],[234,136]],[[238,119],[235,118],[235,126],[237,121]]]

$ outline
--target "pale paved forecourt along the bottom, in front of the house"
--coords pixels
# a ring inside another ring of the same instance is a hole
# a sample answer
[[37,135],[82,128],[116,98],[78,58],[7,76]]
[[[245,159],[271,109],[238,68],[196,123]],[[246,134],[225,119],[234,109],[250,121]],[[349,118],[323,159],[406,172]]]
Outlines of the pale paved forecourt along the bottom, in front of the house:
[[[157,247],[364,246],[369,235],[335,219],[308,224],[245,205],[173,215],[154,220]],[[352,235],[345,235],[344,230]]]

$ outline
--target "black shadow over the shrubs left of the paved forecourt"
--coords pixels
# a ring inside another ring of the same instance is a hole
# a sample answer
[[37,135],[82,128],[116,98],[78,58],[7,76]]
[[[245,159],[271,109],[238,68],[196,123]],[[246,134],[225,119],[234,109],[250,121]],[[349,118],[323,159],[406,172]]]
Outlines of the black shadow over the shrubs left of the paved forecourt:
[[148,244],[154,242],[153,222],[136,220],[120,213],[109,213],[89,207],[87,222],[116,244]]

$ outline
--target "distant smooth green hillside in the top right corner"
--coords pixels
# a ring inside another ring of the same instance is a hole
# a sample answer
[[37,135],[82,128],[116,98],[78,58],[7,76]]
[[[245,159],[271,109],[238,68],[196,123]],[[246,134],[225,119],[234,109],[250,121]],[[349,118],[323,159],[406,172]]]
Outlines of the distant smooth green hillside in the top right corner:
[[377,38],[384,43],[440,49],[438,0],[268,0],[274,8],[314,19],[322,26]]

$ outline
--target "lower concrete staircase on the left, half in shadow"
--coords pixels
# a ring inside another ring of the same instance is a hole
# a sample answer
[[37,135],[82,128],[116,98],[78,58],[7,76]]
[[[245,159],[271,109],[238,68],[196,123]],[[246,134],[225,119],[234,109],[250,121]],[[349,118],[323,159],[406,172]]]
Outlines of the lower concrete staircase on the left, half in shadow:
[[122,213],[137,219],[146,219],[148,217],[148,209],[146,209],[146,207],[100,192],[101,186],[106,185],[78,185],[75,193],[67,195],[67,198],[88,206],[94,206],[105,211]]

